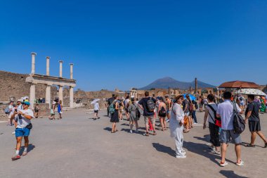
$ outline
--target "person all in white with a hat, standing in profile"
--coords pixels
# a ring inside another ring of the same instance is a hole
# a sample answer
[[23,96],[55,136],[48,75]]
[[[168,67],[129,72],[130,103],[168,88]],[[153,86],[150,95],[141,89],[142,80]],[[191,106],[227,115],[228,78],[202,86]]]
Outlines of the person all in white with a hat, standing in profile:
[[186,158],[186,153],[183,150],[183,117],[185,114],[182,109],[183,95],[176,97],[176,101],[171,111],[171,120],[169,129],[171,137],[174,137],[176,144],[176,158]]

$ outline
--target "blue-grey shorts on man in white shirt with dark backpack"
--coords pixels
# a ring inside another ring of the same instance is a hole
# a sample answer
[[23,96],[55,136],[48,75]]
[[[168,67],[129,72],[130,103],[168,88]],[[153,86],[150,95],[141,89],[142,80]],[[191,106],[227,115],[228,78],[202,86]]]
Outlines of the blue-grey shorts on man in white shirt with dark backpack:
[[221,129],[220,136],[222,144],[228,144],[230,139],[233,140],[234,144],[242,144],[240,134],[235,134],[233,129]]

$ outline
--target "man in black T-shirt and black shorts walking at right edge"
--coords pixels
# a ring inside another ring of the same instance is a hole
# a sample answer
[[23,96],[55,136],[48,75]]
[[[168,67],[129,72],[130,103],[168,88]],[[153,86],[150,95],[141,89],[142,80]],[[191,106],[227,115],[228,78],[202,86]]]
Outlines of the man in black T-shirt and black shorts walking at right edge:
[[256,134],[258,134],[264,141],[264,148],[267,148],[267,140],[261,132],[261,121],[259,119],[259,105],[254,102],[254,95],[248,96],[247,110],[245,112],[245,122],[249,120],[249,131],[252,133],[250,144],[247,147],[255,147],[254,142],[256,140]]

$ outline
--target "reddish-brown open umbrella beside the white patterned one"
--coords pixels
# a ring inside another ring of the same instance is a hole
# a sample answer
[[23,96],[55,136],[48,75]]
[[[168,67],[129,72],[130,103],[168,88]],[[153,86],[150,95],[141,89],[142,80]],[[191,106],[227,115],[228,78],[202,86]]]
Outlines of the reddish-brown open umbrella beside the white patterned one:
[[245,81],[233,81],[233,82],[225,82],[219,86],[219,88],[242,88],[242,89],[257,89],[259,88],[259,84],[255,84],[254,82],[245,82]]

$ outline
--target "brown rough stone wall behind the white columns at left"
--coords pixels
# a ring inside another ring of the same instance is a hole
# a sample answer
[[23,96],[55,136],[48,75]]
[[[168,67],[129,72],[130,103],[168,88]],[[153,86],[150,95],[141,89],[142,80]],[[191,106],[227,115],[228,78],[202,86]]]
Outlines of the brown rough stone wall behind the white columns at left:
[[[0,70],[0,101],[15,100],[22,96],[30,96],[30,84],[25,82],[29,75],[5,72]],[[36,98],[46,97],[46,86],[37,84]],[[57,87],[51,87],[51,101],[57,97]]]

